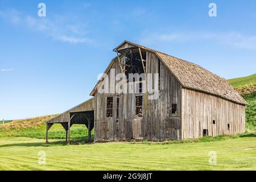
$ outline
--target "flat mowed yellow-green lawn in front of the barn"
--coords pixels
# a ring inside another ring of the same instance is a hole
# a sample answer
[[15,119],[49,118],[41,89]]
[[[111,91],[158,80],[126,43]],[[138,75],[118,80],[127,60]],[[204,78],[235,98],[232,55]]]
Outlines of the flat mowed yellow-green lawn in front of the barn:
[[[256,138],[199,143],[93,143],[64,145],[55,140],[0,138],[0,170],[256,170]],[[38,152],[46,152],[46,165]],[[209,164],[209,152],[217,164]]]

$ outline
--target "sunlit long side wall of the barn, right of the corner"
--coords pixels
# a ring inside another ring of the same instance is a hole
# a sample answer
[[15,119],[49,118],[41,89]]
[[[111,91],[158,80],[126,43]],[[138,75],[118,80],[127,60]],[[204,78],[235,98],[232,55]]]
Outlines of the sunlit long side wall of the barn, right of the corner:
[[203,137],[204,129],[210,136],[245,132],[244,105],[185,88],[182,105],[183,139]]

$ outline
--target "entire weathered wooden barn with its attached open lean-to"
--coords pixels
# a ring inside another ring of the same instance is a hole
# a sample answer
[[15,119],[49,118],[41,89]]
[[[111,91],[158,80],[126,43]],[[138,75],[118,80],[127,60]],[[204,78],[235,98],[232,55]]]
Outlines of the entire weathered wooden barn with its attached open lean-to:
[[[88,131],[94,127],[95,142],[181,140],[245,132],[247,102],[224,78],[199,65],[127,41],[114,51],[117,56],[106,68],[105,76],[116,78],[123,73],[128,78],[131,73],[144,73],[146,76],[135,83],[137,91],[98,92],[106,82],[102,76],[90,93],[91,100],[47,121],[47,139],[53,123],[63,125],[69,142],[73,124],[84,124]],[[150,99],[155,93],[142,92],[141,83],[149,82],[148,75],[158,75],[149,84],[158,92],[155,99]],[[107,90],[115,91],[113,81],[107,81]],[[114,86],[118,84],[118,80],[114,82]]]

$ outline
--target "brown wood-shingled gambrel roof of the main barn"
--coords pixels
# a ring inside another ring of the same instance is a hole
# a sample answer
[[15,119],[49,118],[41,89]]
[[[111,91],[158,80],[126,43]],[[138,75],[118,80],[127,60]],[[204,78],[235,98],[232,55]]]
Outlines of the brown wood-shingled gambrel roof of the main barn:
[[[176,57],[167,55],[166,53],[162,53],[128,41],[120,44],[114,49],[114,51],[119,52],[123,48],[127,47],[139,47],[141,49],[145,49],[146,51],[154,52],[184,88],[213,94],[238,104],[248,104],[233,88],[233,86],[231,86],[229,82],[225,80],[225,78],[219,77],[214,73],[207,71],[207,69],[200,67],[199,65],[189,63],[188,61],[178,59]],[[106,72],[108,72],[108,69]],[[93,92],[96,90],[96,87],[93,89]]]

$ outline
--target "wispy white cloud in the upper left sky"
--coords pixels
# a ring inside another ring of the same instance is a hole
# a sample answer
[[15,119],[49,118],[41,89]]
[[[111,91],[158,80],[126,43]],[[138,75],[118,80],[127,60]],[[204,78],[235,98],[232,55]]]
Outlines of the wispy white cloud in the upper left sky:
[[67,20],[64,16],[56,16],[54,19],[35,17],[14,9],[0,11],[0,18],[5,19],[13,24],[13,26],[45,34],[61,42],[73,44],[94,42],[87,35],[88,27],[86,23],[81,23],[77,20]]

